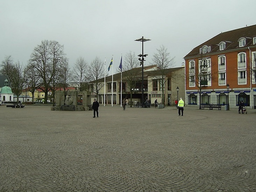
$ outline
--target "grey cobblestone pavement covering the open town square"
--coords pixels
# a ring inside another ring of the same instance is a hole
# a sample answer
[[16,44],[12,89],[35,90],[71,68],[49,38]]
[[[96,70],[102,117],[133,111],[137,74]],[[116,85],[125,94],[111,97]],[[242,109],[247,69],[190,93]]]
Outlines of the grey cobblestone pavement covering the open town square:
[[0,191],[255,192],[255,110],[0,106]]

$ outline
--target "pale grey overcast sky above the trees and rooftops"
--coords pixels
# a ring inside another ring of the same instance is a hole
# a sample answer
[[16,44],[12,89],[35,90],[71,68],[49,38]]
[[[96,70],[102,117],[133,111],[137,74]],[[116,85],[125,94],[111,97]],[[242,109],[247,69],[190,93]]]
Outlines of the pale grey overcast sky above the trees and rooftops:
[[[0,0],[0,62],[11,55],[26,65],[43,40],[64,45],[70,66],[98,56],[114,69],[121,54],[142,53],[148,62],[161,45],[175,67],[194,47],[221,32],[256,24],[255,0]],[[107,68],[107,67],[106,67]]]

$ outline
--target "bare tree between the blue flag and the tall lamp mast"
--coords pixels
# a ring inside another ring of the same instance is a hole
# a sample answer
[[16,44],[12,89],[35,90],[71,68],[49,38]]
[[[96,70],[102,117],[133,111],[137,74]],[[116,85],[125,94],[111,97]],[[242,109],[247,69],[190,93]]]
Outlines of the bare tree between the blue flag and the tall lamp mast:
[[[140,63],[138,62],[137,56],[135,53],[128,52],[125,55],[125,59],[122,65],[122,77],[125,79],[127,83],[127,88],[130,90],[130,99],[132,101],[132,93],[136,86],[136,83],[141,80],[140,72],[141,68],[139,67]],[[122,98],[121,98],[122,101]],[[130,102],[130,107],[132,106],[132,102]]]

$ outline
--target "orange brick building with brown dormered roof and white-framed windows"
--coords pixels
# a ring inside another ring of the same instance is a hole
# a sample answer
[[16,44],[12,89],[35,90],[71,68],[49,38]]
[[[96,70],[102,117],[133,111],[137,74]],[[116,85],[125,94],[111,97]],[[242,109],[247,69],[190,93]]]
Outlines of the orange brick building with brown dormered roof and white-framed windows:
[[220,33],[184,59],[187,105],[256,108],[256,25]]

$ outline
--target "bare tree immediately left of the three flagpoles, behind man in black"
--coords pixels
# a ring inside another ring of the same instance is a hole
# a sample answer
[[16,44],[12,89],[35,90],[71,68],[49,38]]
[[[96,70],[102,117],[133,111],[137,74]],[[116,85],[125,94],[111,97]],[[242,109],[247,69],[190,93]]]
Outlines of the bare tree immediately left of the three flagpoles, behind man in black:
[[100,60],[99,57],[91,62],[91,65],[88,67],[88,80],[93,83],[93,92],[96,93],[97,98],[99,95],[100,89],[104,86],[104,82],[99,81],[99,79],[104,78],[105,68],[104,63]]

